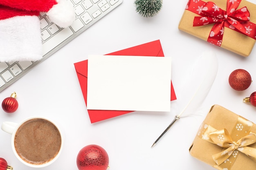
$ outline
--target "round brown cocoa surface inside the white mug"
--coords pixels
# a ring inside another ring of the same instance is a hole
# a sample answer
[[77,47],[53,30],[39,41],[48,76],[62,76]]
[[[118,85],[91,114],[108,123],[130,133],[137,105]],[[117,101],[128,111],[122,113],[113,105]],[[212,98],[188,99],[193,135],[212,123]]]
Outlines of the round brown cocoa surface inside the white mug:
[[14,138],[16,152],[31,164],[44,164],[56,157],[61,148],[61,135],[51,122],[35,118],[23,123]]

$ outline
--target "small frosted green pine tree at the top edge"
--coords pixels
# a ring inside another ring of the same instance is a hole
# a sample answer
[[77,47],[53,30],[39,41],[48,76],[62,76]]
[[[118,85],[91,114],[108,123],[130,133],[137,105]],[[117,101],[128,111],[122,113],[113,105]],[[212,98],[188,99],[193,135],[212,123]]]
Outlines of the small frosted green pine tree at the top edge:
[[143,17],[153,17],[162,8],[163,0],[135,0],[136,12]]

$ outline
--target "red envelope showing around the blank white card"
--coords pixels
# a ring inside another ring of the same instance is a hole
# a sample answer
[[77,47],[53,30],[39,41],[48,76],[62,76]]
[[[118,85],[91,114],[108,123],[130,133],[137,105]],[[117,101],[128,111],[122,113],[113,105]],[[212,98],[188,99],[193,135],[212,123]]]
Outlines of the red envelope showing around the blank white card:
[[[117,52],[112,52],[106,55],[128,55],[128,56],[157,56],[164,57],[162,46],[159,40],[152,41],[146,44],[141,44],[139,46],[134,46],[131,48],[126,48]],[[81,86],[83,93],[83,98],[85,104],[87,105],[87,68],[88,60],[80,61],[74,63],[76,74]],[[176,95],[173,89],[173,84],[171,82],[171,100],[176,100]],[[99,122],[101,120],[106,120],[116,116],[124,115],[132,111],[116,111],[116,110],[88,110],[88,114],[91,120],[91,123]]]

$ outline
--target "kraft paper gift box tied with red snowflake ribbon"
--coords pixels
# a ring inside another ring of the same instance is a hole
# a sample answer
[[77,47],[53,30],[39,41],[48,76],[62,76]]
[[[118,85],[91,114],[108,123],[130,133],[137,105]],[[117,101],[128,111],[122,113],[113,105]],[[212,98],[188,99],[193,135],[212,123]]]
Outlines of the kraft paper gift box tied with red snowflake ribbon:
[[[228,7],[228,11],[233,13],[230,14],[230,12],[226,12],[227,4],[230,5],[230,7]],[[238,5],[237,8],[236,5]],[[207,17],[210,15],[207,14],[207,12],[213,15]],[[195,17],[198,18],[194,24],[195,26],[193,26]],[[243,21],[240,20],[241,18],[243,18]],[[245,22],[245,20],[248,19],[249,22]],[[251,53],[255,44],[255,24],[256,4],[246,0],[211,0],[209,2],[204,2],[202,0],[189,0],[178,28],[186,33],[194,35],[195,37],[203,39],[204,41],[208,41],[211,44],[215,44],[216,46],[220,46],[240,54],[243,57],[247,57]],[[214,25],[215,29],[212,30]],[[244,33],[236,31],[238,29],[235,27],[239,28],[239,30]],[[223,38],[221,39],[220,37],[222,36]],[[214,39],[214,41],[212,41],[212,39]]]

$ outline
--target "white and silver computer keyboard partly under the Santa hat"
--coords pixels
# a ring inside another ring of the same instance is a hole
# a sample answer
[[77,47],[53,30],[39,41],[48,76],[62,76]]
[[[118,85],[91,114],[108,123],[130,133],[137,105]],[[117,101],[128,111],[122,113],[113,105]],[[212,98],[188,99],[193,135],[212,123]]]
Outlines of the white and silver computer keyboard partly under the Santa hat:
[[0,92],[123,2],[123,0],[67,1],[73,5],[76,12],[74,23],[70,27],[60,28],[49,20],[46,13],[40,13],[43,58],[36,62],[0,62]]

